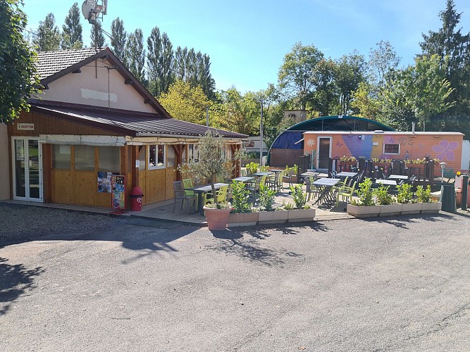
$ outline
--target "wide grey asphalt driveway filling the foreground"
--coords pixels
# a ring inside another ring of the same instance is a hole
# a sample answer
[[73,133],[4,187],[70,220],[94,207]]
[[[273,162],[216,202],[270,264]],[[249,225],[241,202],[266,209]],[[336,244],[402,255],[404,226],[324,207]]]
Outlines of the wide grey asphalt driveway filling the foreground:
[[468,215],[0,242],[0,351],[469,351]]

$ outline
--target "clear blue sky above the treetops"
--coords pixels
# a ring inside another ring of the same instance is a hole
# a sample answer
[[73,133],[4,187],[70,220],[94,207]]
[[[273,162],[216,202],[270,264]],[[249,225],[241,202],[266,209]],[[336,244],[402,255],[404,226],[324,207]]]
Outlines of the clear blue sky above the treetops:
[[[24,0],[28,28],[52,12],[61,27],[73,0]],[[470,1],[454,0],[462,13],[462,32],[470,32]],[[81,8],[82,0],[78,1]],[[438,30],[445,0],[109,0],[104,30],[119,17],[125,30],[140,27],[144,38],[153,27],[166,32],[173,47],[187,46],[211,57],[216,88],[241,92],[276,83],[285,54],[296,42],[313,44],[326,57],[357,49],[368,58],[381,40],[389,41],[409,65],[421,50],[421,33]],[[89,45],[91,25],[82,18]],[[109,42],[109,39],[107,39]]]

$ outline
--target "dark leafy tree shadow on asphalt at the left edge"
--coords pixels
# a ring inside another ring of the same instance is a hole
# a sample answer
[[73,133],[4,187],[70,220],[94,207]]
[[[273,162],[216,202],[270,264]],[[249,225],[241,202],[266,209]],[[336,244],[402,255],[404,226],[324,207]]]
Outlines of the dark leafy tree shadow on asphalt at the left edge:
[[34,278],[44,272],[41,267],[27,269],[23,264],[11,265],[7,261],[0,257],[0,315],[6,314],[11,302],[21,294],[34,289]]

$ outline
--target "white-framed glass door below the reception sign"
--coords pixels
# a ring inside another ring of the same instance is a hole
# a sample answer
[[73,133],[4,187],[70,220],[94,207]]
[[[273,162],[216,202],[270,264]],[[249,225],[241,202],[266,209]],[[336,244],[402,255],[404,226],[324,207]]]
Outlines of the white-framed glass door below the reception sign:
[[13,199],[42,201],[42,150],[37,139],[13,138]]

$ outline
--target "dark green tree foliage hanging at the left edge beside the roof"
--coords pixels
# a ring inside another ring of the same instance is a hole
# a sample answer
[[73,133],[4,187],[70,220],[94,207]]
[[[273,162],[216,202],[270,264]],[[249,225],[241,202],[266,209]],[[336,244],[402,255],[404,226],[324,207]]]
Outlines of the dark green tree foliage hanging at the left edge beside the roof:
[[27,18],[22,1],[0,1],[0,122],[13,122],[20,111],[29,111],[29,97],[39,79],[35,53],[23,37]]

